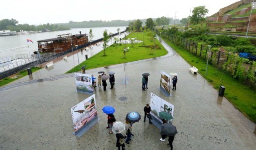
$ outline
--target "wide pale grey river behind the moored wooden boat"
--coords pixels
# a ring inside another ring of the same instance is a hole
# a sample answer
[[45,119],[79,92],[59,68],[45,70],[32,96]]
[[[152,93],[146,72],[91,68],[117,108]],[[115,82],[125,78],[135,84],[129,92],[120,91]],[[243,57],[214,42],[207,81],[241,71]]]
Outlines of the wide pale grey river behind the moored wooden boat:
[[[55,38],[57,37],[57,35],[60,34],[72,33],[72,35],[75,35],[80,34],[80,31],[81,34],[89,34],[90,29],[92,29],[92,33],[94,35],[93,40],[97,40],[103,37],[104,30],[107,30],[108,34],[110,32],[117,33],[117,28],[120,28],[120,32],[122,32],[125,30],[126,27],[72,28],[71,30],[64,31],[53,31],[0,37],[0,59],[14,56],[14,54],[33,54],[34,51],[38,51],[38,40]],[[27,39],[32,40],[33,43],[27,43]]]

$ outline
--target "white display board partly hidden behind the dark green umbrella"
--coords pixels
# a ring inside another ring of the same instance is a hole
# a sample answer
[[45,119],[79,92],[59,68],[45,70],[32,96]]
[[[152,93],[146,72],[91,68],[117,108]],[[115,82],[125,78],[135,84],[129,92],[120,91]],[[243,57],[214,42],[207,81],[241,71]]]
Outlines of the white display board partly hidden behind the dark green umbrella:
[[153,123],[158,128],[161,128],[161,124],[163,123],[161,118],[159,117],[159,112],[165,111],[170,113],[173,116],[174,105],[158,97],[154,93],[150,94],[150,107],[151,107],[150,114],[153,118]]

